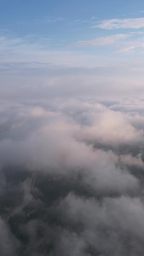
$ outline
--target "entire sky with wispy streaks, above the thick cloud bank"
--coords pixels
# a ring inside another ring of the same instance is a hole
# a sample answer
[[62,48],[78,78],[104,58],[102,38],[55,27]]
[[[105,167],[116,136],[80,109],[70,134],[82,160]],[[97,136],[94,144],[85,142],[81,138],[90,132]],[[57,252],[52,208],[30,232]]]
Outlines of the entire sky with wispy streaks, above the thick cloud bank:
[[37,87],[56,96],[72,87],[73,96],[141,94],[144,2],[2,1],[0,55],[2,97]]

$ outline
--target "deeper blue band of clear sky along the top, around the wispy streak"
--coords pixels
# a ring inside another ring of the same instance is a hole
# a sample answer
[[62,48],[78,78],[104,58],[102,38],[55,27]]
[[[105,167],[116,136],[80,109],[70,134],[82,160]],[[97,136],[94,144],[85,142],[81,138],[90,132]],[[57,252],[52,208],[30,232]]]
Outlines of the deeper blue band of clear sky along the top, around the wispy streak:
[[129,32],[128,29],[109,32],[94,26],[101,20],[142,18],[143,10],[142,1],[4,1],[0,24],[2,30],[8,30],[14,37],[50,38],[60,44],[61,41],[71,44]]

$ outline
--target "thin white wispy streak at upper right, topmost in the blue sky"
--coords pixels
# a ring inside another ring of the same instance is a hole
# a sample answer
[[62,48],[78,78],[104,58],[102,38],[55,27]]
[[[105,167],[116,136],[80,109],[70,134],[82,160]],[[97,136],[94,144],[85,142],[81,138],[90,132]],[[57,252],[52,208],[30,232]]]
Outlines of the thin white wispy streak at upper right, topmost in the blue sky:
[[144,18],[135,19],[112,19],[98,21],[94,27],[103,29],[118,29],[118,28],[141,28],[144,27]]

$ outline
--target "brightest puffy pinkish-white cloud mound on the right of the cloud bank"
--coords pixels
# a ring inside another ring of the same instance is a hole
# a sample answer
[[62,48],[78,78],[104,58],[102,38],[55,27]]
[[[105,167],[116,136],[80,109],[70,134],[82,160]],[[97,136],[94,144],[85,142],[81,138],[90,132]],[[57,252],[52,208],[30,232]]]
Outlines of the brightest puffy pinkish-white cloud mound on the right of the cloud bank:
[[85,126],[80,131],[79,137],[87,142],[120,145],[121,143],[134,143],[141,141],[143,131],[137,131],[128,122],[128,117],[107,109],[96,111],[93,125]]

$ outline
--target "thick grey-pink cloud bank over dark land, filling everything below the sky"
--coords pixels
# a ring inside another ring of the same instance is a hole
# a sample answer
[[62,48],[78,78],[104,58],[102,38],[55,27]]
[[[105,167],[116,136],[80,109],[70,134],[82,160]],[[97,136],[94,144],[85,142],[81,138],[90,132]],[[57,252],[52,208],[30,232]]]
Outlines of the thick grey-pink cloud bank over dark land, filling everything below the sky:
[[144,104],[0,102],[2,256],[141,256]]

